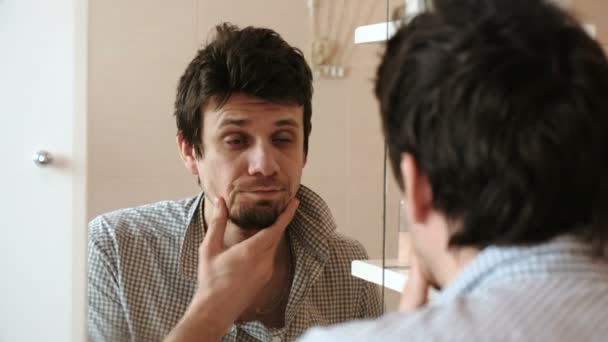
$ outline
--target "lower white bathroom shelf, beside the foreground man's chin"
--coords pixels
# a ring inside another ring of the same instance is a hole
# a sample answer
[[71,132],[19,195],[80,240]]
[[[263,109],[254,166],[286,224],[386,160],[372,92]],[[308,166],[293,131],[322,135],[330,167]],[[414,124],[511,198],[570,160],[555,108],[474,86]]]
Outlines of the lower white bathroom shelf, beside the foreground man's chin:
[[382,259],[354,260],[351,263],[353,277],[361,278],[385,288],[402,292],[407,281],[408,266],[397,259],[386,259],[384,284],[382,284]]

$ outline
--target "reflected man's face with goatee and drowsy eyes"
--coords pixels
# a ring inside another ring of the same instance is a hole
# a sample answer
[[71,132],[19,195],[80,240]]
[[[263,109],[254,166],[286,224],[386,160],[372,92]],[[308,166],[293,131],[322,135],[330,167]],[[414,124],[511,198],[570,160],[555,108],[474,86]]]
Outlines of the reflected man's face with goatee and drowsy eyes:
[[246,95],[204,109],[199,176],[206,197],[223,197],[237,226],[270,226],[295,196],[305,163],[303,116],[301,106]]

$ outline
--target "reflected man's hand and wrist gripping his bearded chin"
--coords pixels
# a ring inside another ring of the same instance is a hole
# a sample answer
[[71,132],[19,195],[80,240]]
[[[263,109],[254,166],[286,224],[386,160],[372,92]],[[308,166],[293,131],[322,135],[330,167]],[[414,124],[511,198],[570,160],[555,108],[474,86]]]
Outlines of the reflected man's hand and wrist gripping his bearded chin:
[[231,248],[224,246],[228,210],[215,200],[213,217],[199,247],[198,289],[166,341],[217,341],[270,281],[275,254],[299,205],[292,199],[276,222]]

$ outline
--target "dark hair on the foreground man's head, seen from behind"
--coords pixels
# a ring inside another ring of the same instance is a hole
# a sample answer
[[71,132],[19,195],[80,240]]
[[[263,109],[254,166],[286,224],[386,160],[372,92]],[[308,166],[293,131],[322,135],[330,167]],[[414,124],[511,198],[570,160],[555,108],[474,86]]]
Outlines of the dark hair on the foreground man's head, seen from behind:
[[[376,96],[393,171],[411,154],[450,244],[573,234],[606,254],[608,63],[540,0],[435,1],[389,41]],[[407,189],[404,189],[407,191]]]

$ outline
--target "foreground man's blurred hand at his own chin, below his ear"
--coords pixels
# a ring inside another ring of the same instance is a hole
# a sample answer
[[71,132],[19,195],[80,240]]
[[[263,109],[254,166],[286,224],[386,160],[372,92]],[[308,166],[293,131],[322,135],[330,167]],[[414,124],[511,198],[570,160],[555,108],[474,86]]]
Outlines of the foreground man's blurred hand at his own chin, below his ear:
[[402,312],[412,312],[424,306],[428,302],[430,289],[430,283],[415,253],[411,253],[409,261],[409,275],[399,305],[399,311]]

